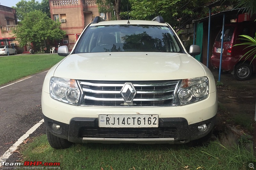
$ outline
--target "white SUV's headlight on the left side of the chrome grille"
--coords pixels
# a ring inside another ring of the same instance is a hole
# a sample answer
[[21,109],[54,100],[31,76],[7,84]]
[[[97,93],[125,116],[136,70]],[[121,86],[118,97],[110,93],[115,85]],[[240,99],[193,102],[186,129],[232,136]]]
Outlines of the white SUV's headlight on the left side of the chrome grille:
[[50,94],[53,99],[72,105],[78,105],[80,99],[80,90],[74,79],[52,77]]

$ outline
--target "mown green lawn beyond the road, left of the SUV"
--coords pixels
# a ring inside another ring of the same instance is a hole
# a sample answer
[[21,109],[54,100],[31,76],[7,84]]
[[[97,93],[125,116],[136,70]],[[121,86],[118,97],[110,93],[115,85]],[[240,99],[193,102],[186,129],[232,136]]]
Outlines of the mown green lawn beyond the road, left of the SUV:
[[57,54],[0,57],[0,85],[49,69],[63,58]]

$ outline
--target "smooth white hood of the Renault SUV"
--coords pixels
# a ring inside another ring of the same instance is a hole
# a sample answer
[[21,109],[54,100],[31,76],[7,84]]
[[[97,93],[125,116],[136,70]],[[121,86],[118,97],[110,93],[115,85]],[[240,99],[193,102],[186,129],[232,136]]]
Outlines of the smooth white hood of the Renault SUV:
[[205,76],[188,54],[110,52],[72,54],[54,71],[55,77],[81,80],[173,80]]

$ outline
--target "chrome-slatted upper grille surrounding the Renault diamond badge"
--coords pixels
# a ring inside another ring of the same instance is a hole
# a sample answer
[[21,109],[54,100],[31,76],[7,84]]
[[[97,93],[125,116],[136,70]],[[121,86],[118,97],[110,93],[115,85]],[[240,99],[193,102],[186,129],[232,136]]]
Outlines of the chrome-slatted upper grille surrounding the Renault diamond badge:
[[[172,81],[82,81],[81,106],[142,107],[173,106],[176,104],[175,88],[180,80]],[[137,91],[132,102],[125,102],[121,89],[132,83]]]

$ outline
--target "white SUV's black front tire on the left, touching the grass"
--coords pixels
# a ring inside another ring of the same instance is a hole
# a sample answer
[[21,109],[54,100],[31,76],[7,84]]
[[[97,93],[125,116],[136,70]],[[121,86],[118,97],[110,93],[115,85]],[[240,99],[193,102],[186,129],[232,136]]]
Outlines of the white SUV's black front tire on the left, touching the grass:
[[46,136],[47,136],[48,142],[52,148],[66,149],[72,145],[72,143],[69,142],[67,139],[62,139],[60,137],[56,137],[56,136],[52,135],[48,129],[46,129]]

